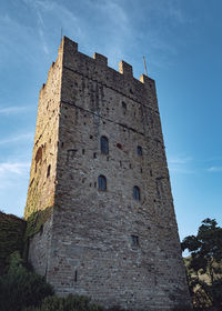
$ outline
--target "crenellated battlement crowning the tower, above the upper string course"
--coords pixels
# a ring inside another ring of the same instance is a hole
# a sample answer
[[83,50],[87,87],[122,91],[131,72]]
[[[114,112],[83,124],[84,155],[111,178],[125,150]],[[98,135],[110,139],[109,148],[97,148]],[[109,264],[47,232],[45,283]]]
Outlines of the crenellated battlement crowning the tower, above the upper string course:
[[[133,77],[133,68],[124,60],[119,62],[119,71],[108,66],[108,58],[94,52],[93,58],[80,52],[78,43],[63,37],[59,47],[58,59],[52,62],[48,80],[53,76],[53,70],[62,67],[62,70],[70,70],[81,74],[92,81],[98,81],[113,89],[132,100],[138,100],[144,104],[151,106],[151,98],[155,97],[155,82],[145,74],[141,74],[140,80]],[[42,86],[41,91],[44,89]],[[157,110],[158,111],[158,110]]]

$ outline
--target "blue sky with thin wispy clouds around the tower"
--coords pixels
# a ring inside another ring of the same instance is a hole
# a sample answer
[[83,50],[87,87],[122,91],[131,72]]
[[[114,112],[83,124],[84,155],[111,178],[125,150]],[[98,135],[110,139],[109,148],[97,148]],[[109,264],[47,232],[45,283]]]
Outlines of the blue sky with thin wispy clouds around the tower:
[[221,14],[221,0],[0,0],[0,210],[23,215],[39,90],[62,32],[137,79],[145,56],[180,238],[205,218],[222,225]]

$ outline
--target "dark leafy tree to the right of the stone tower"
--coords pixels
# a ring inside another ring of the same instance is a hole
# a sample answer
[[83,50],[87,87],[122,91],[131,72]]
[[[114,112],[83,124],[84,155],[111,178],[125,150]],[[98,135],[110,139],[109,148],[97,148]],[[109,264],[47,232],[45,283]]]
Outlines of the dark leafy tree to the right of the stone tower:
[[198,234],[186,237],[182,249],[191,257],[185,260],[189,288],[195,308],[222,308],[222,228],[205,219]]

